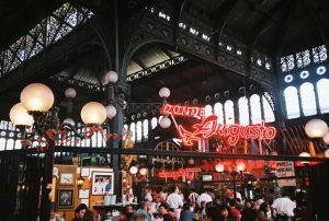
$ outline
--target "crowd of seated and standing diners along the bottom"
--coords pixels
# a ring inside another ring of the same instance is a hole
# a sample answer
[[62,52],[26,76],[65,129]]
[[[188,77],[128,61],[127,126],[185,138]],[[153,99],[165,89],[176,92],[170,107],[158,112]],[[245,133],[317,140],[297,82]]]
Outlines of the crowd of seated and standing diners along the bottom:
[[[138,209],[125,206],[118,221],[311,221],[307,210],[307,194],[299,190],[293,198],[277,196],[273,189],[265,196],[249,200],[239,193],[236,198],[217,198],[211,189],[197,194],[192,189],[184,196],[179,188],[168,193],[148,189]],[[98,220],[86,205],[75,211],[72,221]],[[57,220],[50,216],[50,220]]]

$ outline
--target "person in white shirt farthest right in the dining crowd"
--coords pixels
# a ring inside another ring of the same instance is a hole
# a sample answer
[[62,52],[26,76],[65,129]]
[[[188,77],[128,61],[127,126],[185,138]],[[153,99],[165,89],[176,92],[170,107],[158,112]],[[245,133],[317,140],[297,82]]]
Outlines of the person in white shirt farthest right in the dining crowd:
[[292,218],[294,217],[294,209],[296,208],[296,205],[288,198],[286,194],[283,194],[283,197],[274,200],[272,207],[276,210],[279,218]]

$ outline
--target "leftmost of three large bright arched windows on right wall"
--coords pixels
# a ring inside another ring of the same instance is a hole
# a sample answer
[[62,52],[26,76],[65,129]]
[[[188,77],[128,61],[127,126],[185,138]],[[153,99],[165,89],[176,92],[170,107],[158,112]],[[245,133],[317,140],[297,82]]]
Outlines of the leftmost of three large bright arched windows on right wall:
[[295,86],[288,86],[283,93],[287,118],[300,117],[297,89]]

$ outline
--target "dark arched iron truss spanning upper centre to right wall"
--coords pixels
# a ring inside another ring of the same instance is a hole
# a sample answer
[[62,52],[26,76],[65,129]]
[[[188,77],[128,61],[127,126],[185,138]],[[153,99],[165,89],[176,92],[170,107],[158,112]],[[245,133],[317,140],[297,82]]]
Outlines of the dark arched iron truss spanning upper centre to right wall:
[[[188,13],[183,14],[184,16],[181,16],[175,24],[172,19],[174,15],[171,13],[174,11],[174,5],[164,1],[158,2],[148,11],[133,36],[129,57],[137,50],[136,48],[147,43],[163,43],[239,74],[250,77],[262,85],[273,86],[271,59],[268,56],[254,50],[251,53],[249,62],[246,45],[232,35],[222,34],[219,40],[215,42],[215,37],[213,37],[215,30]],[[128,78],[128,81],[132,80]]]

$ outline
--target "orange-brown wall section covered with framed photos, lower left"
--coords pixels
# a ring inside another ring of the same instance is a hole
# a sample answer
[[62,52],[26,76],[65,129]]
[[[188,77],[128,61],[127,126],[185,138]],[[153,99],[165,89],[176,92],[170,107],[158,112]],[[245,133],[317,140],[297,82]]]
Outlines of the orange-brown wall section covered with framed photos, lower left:
[[[79,188],[77,179],[82,177]],[[90,210],[103,203],[105,195],[114,194],[114,173],[110,167],[80,167],[76,165],[54,165],[53,201],[57,203],[57,212],[65,220],[75,218],[75,209],[86,203]],[[94,211],[98,213],[97,211]]]

